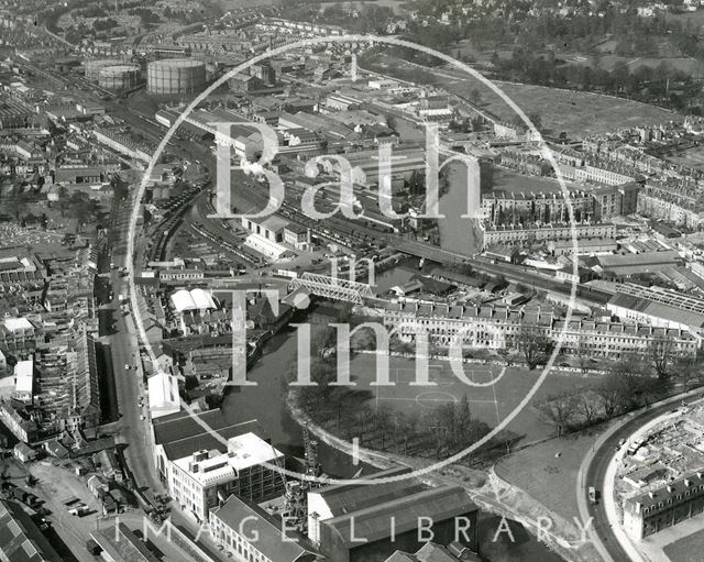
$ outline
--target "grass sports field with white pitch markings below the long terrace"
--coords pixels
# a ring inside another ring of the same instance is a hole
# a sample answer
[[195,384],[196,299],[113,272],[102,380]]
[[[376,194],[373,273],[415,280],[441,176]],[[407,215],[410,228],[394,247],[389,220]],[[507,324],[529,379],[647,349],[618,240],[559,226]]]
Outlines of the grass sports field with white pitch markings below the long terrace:
[[[540,370],[465,364],[465,382],[452,372],[449,362],[430,360],[428,383],[418,384],[414,360],[389,357],[389,381],[395,386],[374,386],[371,383],[376,374],[375,360],[375,355],[359,354],[350,365],[350,372],[358,377],[358,389],[372,393],[370,404],[374,408],[384,404],[406,414],[422,414],[438,405],[457,404],[466,395],[472,418],[486,422],[491,428],[495,428],[512,414],[541,374]],[[532,405],[553,394],[593,388],[598,381],[597,376],[550,373],[534,399],[506,429],[522,436],[527,442],[551,436],[554,428],[539,419]]]

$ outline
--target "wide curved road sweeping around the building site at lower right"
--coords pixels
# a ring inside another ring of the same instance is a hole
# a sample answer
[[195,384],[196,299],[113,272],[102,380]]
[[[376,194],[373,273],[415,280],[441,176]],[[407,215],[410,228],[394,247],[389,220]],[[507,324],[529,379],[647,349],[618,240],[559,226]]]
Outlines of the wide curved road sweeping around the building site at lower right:
[[606,516],[604,502],[600,500],[596,505],[590,504],[587,494],[590,486],[594,486],[597,491],[604,489],[606,472],[613,462],[616,448],[622,439],[627,440],[639,428],[654,418],[667,414],[672,409],[673,405],[679,405],[683,399],[693,401],[693,398],[698,399],[701,394],[701,388],[691,390],[627,415],[602,434],[594,449],[588,451],[582,461],[576,483],[580,518],[583,524],[590,517],[594,518],[592,529],[596,533],[596,537],[592,533],[592,541],[605,561],[623,562],[631,560],[631,558],[620,546],[614,533],[608,517]]

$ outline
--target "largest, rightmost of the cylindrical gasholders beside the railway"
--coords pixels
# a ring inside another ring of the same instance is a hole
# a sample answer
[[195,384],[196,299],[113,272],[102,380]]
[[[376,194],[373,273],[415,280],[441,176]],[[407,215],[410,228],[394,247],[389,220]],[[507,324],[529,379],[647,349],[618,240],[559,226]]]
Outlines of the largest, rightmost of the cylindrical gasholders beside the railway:
[[193,96],[206,87],[206,64],[193,58],[153,60],[146,67],[146,91],[153,96]]

